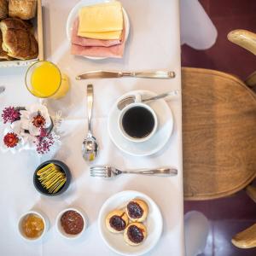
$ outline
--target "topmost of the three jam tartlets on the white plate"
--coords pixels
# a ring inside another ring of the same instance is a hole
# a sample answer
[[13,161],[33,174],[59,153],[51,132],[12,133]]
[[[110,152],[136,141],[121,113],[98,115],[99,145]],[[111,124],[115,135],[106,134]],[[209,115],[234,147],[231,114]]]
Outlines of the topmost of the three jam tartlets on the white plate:
[[143,200],[131,200],[126,206],[126,213],[132,222],[143,222],[148,217],[148,205]]

